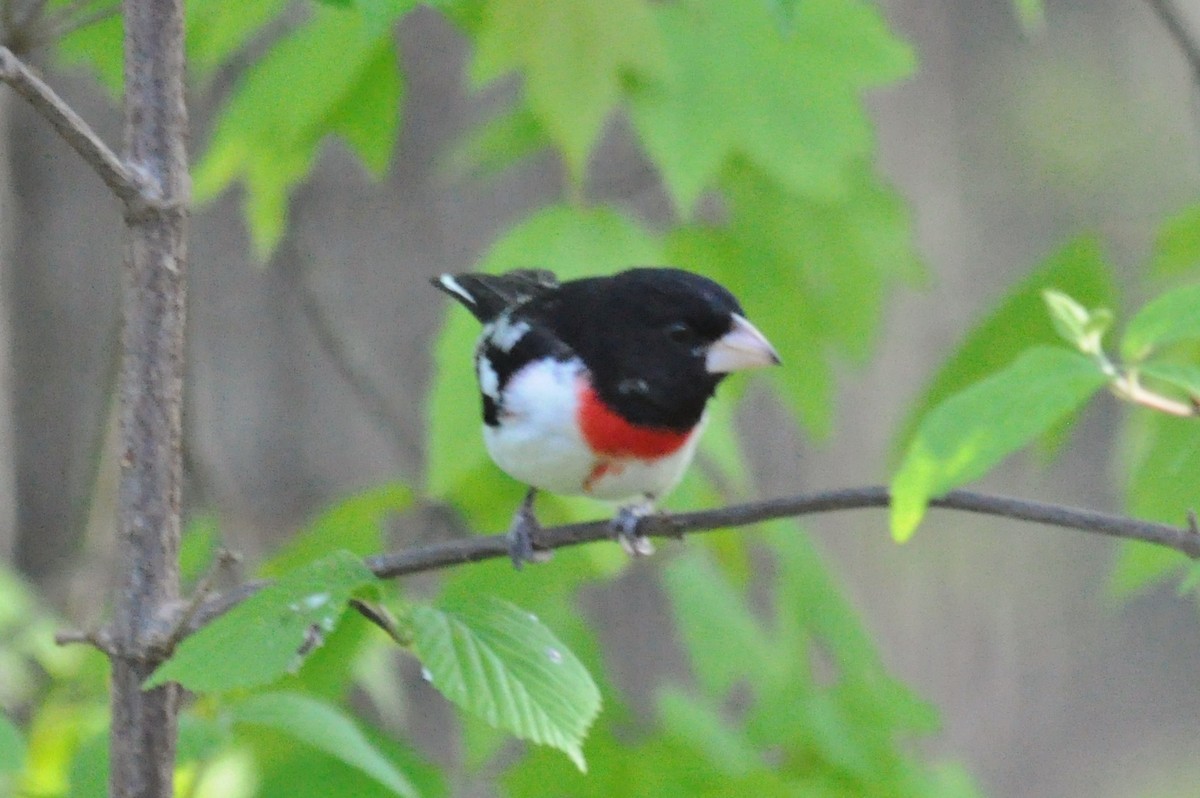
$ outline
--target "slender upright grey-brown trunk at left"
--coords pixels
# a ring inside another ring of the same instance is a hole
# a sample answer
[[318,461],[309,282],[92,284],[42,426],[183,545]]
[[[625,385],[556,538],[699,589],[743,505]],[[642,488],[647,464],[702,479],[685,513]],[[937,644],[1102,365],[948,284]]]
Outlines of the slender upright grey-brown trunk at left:
[[172,794],[178,686],[143,692],[179,600],[186,204],[181,0],[125,0],[127,203],[110,793]]

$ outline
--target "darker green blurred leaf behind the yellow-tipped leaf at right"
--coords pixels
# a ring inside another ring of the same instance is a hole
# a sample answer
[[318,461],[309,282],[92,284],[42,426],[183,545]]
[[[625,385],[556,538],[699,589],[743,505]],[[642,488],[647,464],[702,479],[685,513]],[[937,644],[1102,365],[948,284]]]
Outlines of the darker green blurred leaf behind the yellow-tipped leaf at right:
[[1116,287],[1099,242],[1076,239],[1048,258],[979,323],[930,380],[913,403],[896,436],[896,449],[906,444],[917,421],[931,408],[986,374],[1012,362],[1038,343],[1056,343],[1058,335],[1046,314],[1042,292],[1061,290],[1085,306],[1112,306]]

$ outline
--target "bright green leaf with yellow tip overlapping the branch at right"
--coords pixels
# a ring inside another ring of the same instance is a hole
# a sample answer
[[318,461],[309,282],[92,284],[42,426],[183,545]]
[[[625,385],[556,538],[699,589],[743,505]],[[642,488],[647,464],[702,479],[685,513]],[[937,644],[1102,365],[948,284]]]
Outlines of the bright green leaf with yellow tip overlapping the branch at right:
[[1088,358],[1034,347],[930,410],[892,480],[892,534],[907,540],[930,498],[983,476],[1106,382]]

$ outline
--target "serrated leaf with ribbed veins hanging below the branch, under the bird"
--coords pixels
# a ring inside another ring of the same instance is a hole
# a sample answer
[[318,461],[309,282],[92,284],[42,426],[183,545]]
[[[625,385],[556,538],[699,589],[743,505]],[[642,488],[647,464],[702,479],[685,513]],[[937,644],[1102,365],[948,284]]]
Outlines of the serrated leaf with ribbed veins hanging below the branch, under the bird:
[[430,682],[463,709],[564,751],[580,770],[600,712],[587,668],[536,618],[498,599],[413,610],[414,649]]

